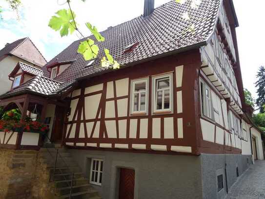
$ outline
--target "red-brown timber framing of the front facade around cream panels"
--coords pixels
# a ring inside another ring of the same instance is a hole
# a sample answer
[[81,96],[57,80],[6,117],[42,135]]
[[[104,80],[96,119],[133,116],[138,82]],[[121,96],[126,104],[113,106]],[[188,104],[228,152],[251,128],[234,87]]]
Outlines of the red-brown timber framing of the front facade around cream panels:
[[[240,154],[241,150],[236,148],[231,148],[229,146],[224,146],[220,144],[215,144],[211,142],[207,142],[203,140],[203,135],[201,131],[201,111],[200,111],[200,87],[199,87],[199,68],[201,66],[201,55],[199,49],[190,50],[187,52],[180,53],[178,55],[168,56],[166,58],[157,59],[154,61],[146,62],[143,64],[139,64],[132,67],[123,68],[117,71],[112,71],[108,74],[96,76],[90,78],[88,80],[83,80],[80,83],[81,95],[73,97],[72,99],[79,99],[77,108],[74,111],[73,118],[77,120],[66,121],[65,124],[70,124],[69,131],[64,131],[64,137],[66,137],[63,141],[74,143],[74,146],[68,146],[72,149],[87,149],[87,150],[104,150],[104,151],[123,151],[123,152],[136,152],[136,153],[156,153],[156,154],[184,154],[190,155],[187,153],[176,153],[170,151],[171,146],[190,146],[192,147],[191,155],[200,155],[200,153],[208,153],[208,154],[224,154],[224,153],[233,153]],[[181,88],[176,88],[176,66],[183,65],[183,83]],[[166,72],[173,71],[173,106],[174,113],[173,114],[159,114],[152,115],[152,76],[159,75]],[[129,107],[130,107],[130,82],[134,79],[146,78],[149,77],[149,99],[148,99],[148,115],[130,115]],[[129,78],[129,91],[128,95],[117,97],[116,96],[116,87],[115,80]],[[114,82],[114,98],[106,99],[106,89],[107,82]],[[84,94],[84,89],[86,87],[103,84],[103,90],[96,91],[89,94]],[[77,88],[77,89],[78,89]],[[182,90],[183,95],[183,112],[177,113],[177,91]],[[217,91],[218,92],[218,91]],[[84,115],[84,97],[91,96],[95,94],[102,94],[99,109],[96,114],[96,119],[81,119],[81,114],[83,110]],[[220,93],[219,93],[220,95]],[[117,108],[117,100],[119,99],[128,99],[128,107],[127,107],[127,116],[118,118],[118,108]],[[105,104],[107,101],[115,102],[115,118],[104,118],[105,116]],[[99,114],[101,112],[101,117],[99,118]],[[174,118],[174,139],[164,139],[164,118],[173,117]],[[141,119],[148,119],[148,134],[147,138],[140,139],[140,121]],[[161,118],[161,138],[155,139],[152,138],[152,119],[153,118]],[[177,118],[183,118],[183,138],[178,138],[178,125]],[[129,130],[130,130],[130,119],[137,119],[137,136],[136,138],[129,138]],[[105,122],[107,120],[115,120],[116,121],[116,129],[117,129],[117,138],[108,138],[106,133]],[[119,122],[118,120],[126,120],[126,138],[119,138]],[[100,121],[100,135],[99,138],[93,138],[93,133],[96,128],[96,122]],[[90,137],[88,137],[87,129],[85,123],[94,122],[92,133]],[[71,129],[73,124],[76,124],[76,132],[75,138],[69,138]],[[84,125],[85,138],[79,138],[80,126]],[[218,127],[221,125],[215,124]],[[66,127],[65,127],[66,129]],[[222,127],[222,129],[224,129]],[[215,132],[213,132],[215,133]],[[97,143],[96,147],[79,147],[77,143]],[[108,143],[112,144],[112,148],[102,149],[100,147],[100,143]],[[115,149],[114,144],[128,144],[128,149]],[[134,150],[132,149],[132,144],[146,144],[146,150]],[[154,145],[166,145],[166,152],[158,152],[151,150],[151,144]]]

